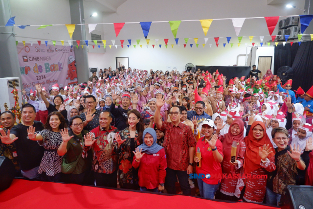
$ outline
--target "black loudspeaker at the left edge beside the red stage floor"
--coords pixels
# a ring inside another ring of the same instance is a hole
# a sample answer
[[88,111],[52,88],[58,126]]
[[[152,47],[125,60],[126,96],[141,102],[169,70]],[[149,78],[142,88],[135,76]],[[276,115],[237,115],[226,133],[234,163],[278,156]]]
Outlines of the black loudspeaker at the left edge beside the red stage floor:
[[12,161],[0,156],[0,191],[10,187],[15,176],[15,167]]

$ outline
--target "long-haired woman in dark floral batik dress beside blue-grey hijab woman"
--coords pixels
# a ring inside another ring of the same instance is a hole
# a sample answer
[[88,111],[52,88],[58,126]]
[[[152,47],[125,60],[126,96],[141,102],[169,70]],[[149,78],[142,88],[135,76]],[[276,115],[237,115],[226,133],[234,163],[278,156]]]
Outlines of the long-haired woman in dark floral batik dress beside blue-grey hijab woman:
[[118,155],[118,180],[121,188],[138,189],[138,171],[132,166],[135,148],[142,144],[144,124],[137,110],[127,113],[128,127],[115,134],[117,144],[114,152]]

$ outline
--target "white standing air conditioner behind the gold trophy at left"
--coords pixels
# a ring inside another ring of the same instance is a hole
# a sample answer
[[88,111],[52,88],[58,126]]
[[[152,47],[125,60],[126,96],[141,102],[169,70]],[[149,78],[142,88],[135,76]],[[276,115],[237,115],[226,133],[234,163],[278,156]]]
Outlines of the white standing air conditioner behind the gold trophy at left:
[[11,93],[13,91],[13,81],[15,81],[16,89],[18,90],[18,96],[19,96],[19,105],[22,108],[22,93],[21,93],[21,81],[18,77],[7,77],[7,78],[0,78],[0,110],[1,113],[5,111],[4,103],[8,106],[8,109],[14,107],[15,100],[14,100],[14,94]]

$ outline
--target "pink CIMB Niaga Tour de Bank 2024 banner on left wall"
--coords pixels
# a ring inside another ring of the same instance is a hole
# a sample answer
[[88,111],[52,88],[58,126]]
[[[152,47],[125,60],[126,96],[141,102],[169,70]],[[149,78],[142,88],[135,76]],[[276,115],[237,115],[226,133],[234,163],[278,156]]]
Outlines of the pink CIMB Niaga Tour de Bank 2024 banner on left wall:
[[46,90],[58,83],[60,88],[77,84],[74,49],[70,46],[53,46],[21,43],[17,46],[22,75],[22,88],[29,93],[40,83]]

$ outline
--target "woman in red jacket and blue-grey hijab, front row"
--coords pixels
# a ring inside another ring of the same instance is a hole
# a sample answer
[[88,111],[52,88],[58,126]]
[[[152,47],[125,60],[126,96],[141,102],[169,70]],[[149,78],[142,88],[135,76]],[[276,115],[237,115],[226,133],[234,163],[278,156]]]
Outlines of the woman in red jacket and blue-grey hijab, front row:
[[133,167],[139,167],[140,190],[161,192],[164,190],[166,176],[164,148],[156,143],[156,131],[153,128],[146,128],[142,138],[143,144],[136,148],[136,152],[133,151]]

